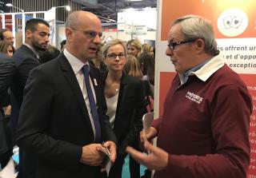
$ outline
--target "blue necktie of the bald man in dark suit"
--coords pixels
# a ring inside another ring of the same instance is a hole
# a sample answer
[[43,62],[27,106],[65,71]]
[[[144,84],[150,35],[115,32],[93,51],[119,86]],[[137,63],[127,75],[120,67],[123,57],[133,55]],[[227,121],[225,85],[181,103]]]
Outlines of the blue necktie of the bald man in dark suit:
[[95,101],[94,101],[94,94],[93,94],[93,91],[90,87],[90,79],[89,79],[90,68],[89,68],[89,65],[83,65],[82,72],[83,72],[84,77],[85,77],[87,95],[88,95],[88,98],[89,98],[89,101],[90,101],[90,112],[94,117],[95,140],[96,140],[96,142],[99,142],[100,138],[101,138],[101,127],[100,127],[100,124],[99,124],[98,112],[97,112],[96,104],[95,104]]

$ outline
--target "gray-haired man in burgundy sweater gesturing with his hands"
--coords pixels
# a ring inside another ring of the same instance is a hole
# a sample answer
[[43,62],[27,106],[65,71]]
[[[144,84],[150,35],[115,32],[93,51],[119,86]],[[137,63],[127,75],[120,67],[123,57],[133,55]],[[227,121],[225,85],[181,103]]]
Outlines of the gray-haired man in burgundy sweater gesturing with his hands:
[[[166,55],[177,75],[162,117],[141,140],[147,156],[127,152],[161,178],[245,178],[250,164],[252,102],[246,85],[218,55],[210,22],[186,15],[168,34]],[[158,136],[157,147],[147,139]]]

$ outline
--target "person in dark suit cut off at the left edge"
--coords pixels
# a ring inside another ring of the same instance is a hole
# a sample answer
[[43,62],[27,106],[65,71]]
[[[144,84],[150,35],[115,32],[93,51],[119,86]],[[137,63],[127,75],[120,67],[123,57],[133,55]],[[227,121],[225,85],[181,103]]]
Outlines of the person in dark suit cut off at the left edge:
[[10,129],[4,119],[5,114],[2,110],[6,106],[7,91],[10,79],[14,73],[14,61],[0,53],[0,164],[4,168],[12,156],[12,137]]

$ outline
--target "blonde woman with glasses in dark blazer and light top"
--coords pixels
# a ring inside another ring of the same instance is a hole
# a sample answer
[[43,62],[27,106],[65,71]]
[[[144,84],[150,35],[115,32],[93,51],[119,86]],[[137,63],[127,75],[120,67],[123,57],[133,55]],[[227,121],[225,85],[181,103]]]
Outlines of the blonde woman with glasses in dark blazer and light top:
[[[142,130],[142,116],[146,113],[143,103],[142,81],[123,73],[126,64],[126,45],[118,39],[106,42],[102,48],[108,72],[103,76],[107,115],[118,139],[118,157],[110,169],[110,178],[122,177],[122,165],[126,157],[126,146],[138,145]],[[139,178],[139,164],[130,168],[130,177]]]

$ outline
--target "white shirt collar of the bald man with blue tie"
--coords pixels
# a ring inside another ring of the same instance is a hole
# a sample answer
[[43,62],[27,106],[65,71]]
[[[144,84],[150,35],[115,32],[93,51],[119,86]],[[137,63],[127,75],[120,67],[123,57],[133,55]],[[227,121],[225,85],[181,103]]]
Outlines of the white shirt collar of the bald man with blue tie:
[[80,61],[78,59],[78,57],[75,57],[68,50],[66,50],[66,48],[63,50],[63,53],[64,53],[67,61],[70,62],[70,65],[71,65],[72,69],[74,70],[75,75],[82,69],[83,65],[89,65],[88,61],[86,61],[86,63],[83,63],[82,61]]

